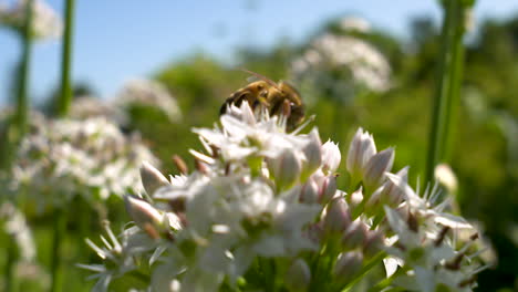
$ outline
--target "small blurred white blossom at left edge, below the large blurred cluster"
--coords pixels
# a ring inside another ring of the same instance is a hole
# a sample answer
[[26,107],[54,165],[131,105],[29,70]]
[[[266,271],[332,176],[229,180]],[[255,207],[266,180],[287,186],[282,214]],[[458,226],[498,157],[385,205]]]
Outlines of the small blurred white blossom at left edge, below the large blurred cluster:
[[35,246],[25,217],[10,202],[0,205],[0,230],[3,230],[15,243],[22,261],[33,261]]

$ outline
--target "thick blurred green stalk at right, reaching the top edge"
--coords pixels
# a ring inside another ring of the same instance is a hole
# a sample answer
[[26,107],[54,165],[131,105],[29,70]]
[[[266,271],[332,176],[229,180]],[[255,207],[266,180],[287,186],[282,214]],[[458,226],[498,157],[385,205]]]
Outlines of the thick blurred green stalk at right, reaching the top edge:
[[442,30],[441,54],[437,67],[437,87],[435,90],[432,113],[432,127],[428,137],[428,154],[425,169],[425,182],[434,179],[435,166],[447,161],[447,149],[452,144],[452,128],[458,108],[462,73],[464,65],[464,10],[462,0],[444,1],[444,22]]

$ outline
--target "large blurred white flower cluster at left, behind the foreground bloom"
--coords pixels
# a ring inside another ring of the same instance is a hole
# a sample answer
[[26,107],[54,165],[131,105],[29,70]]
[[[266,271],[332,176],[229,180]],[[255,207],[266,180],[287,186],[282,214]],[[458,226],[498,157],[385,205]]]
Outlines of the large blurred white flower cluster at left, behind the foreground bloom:
[[125,136],[104,118],[42,118],[22,140],[13,182],[43,199],[41,207],[75,195],[106,199],[142,189],[135,169],[144,160],[157,161],[138,136]]

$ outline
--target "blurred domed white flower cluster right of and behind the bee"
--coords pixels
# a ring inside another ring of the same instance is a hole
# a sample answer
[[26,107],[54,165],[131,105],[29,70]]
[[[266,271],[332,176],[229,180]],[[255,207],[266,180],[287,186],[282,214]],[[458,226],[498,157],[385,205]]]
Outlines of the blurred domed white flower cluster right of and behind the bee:
[[[351,21],[343,23],[348,33],[366,29],[360,23],[356,24],[361,28],[349,28],[353,24]],[[293,60],[293,77],[304,86],[321,88],[327,95],[341,100],[363,88],[388,90],[392,70],[385,56],[372,44],[348,33],[325,33],[313,40],[302,55]]]

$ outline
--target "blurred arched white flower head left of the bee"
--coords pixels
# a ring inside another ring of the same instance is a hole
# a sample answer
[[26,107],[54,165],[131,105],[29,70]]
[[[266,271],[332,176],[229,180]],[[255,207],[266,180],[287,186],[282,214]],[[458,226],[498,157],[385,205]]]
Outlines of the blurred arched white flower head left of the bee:
[[182,119],[182,112],[176,98],[169,94],[164,85],[152,80],[127,82],[113,101],[113,104],[116,107],[152,106],[162,111],[174,123]]

